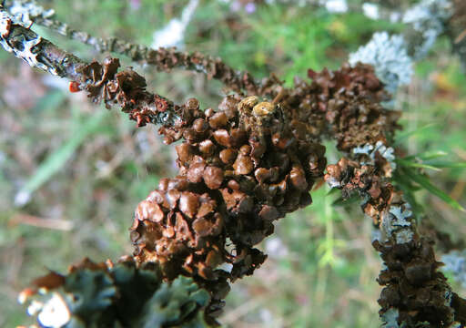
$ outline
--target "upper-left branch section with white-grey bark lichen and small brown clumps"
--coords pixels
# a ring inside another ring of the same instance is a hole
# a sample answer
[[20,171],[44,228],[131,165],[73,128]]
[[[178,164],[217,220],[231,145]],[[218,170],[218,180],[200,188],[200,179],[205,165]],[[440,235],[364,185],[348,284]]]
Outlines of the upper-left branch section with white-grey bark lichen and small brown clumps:
[[0,9],[0,31],[0,43],[6,51],[31,67],[73,80],[70,90],[86,90],[94,102],[103,100],[107,107],[118,104],[138,126],[183,124],[181,108],[165,97],[147,92],[144,77],[131,68],[117,73],[118,59],[107,58],[104,64],[87,64],[16,23],[4,9]]

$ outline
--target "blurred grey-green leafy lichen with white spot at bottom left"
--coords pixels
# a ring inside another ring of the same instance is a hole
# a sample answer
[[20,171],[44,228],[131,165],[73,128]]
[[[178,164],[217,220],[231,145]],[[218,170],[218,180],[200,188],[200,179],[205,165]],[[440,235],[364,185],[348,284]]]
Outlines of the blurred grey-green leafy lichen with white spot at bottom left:
[[190,278],[162,282],[157,267],[124,258],[50,272],[20,294],[41,327],[208,327],[208,292]]

